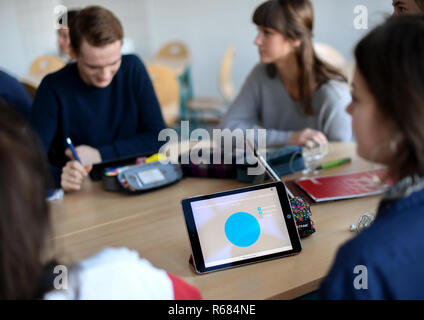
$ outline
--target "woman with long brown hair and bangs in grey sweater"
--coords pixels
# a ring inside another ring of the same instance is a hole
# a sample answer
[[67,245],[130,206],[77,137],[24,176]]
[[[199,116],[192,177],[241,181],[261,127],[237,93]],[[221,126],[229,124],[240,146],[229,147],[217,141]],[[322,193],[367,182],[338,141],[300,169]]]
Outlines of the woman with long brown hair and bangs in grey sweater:
[[345,77],[313,47],[309,0],[270,0],[253,14],[255,66],[221,126],[267,129],[267,145],[306,145],[351,139],[344,108],[351,96]]

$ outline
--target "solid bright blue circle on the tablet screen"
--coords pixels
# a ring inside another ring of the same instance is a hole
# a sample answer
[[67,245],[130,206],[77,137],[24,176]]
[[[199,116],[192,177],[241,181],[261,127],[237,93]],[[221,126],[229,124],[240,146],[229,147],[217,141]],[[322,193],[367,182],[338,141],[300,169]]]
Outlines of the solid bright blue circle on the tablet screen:
[[237,247],[250,247],[258,241],[260,234],[258,220],[247,212],[234,213],[225,222],[225,235]]

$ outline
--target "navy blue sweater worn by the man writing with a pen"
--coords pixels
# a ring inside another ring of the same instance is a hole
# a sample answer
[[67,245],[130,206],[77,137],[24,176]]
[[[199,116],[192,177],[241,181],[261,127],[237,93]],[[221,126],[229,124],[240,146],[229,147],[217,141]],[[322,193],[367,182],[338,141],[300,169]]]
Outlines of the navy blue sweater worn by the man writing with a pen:
[[65,156],[66,138],[75,146],[99,150],[102,161],[156,152],[165,128],[150,77],[140,59],[122,56],[121,66],[106,88],[86,84],[76,63],[46,76],[31,111],[31,124],[40,135],[56,185]]

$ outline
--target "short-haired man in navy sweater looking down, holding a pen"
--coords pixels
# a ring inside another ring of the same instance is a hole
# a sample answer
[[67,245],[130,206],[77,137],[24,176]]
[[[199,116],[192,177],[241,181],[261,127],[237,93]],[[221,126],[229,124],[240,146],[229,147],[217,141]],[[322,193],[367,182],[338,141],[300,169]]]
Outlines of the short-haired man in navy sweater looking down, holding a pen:
[[[70,38],[76,62],[43,79],[31,113],[56,185],[65,191],[79,190],[92,164],[157,152],[165,128],[143,63],[121,55],[123,30],[110,11],[81,10]],[[68,137],[81,163],[68,149]]]

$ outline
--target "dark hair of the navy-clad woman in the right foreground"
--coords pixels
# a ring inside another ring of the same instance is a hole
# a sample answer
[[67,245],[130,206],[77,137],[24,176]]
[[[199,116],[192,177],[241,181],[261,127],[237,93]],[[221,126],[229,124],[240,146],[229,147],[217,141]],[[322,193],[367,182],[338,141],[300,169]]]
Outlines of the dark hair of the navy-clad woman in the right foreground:
[[355,57],[383,119],[402,135],[391,174],[424,173],[424,16],[388,19],[359,42]]

